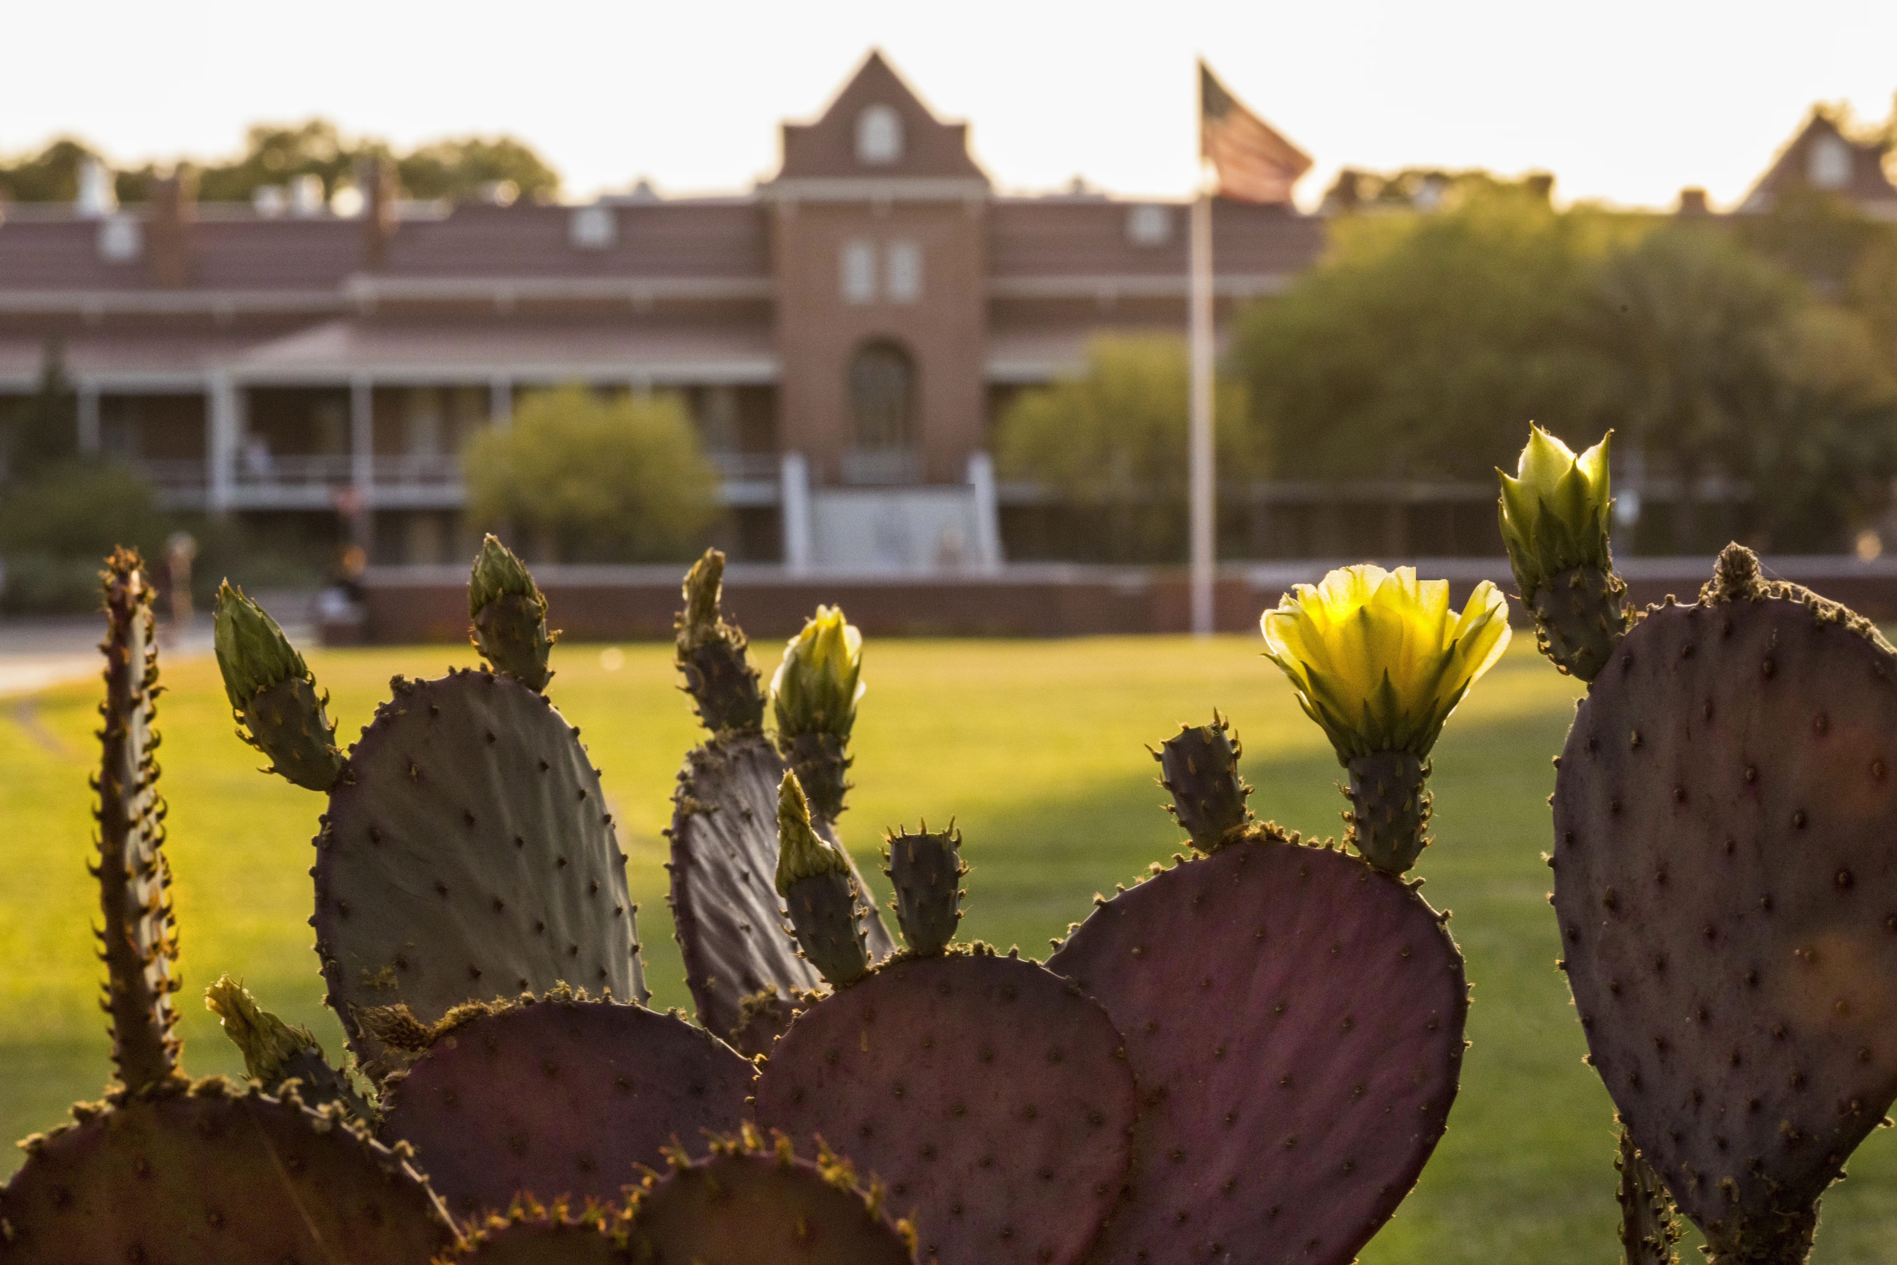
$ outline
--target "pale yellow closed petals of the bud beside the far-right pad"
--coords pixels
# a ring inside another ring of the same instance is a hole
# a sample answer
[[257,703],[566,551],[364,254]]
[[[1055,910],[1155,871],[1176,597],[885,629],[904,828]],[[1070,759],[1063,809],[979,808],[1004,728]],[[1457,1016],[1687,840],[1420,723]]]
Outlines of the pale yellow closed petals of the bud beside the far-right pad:
[[1612,506],[1607,478],[1607,442],[1580,453],[1540,427],[1529,429],[1516,476],[1502,470],[1502,542],[1521,584],[1521,601],[1554,577],[1575,567],[1612,565],[1607,514]]

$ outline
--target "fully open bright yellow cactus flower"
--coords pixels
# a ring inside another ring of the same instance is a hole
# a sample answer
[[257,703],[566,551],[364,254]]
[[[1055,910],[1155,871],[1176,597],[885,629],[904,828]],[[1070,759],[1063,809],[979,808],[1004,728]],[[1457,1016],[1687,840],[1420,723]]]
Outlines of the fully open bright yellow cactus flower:
[[1387,751],[1423,759],[1508,645],[1508,599],[1483,580],[1455,613],[1447,580],[1360,563],[1299,584],[1260,626],[1265,656],[1292,679],[1341,764]]

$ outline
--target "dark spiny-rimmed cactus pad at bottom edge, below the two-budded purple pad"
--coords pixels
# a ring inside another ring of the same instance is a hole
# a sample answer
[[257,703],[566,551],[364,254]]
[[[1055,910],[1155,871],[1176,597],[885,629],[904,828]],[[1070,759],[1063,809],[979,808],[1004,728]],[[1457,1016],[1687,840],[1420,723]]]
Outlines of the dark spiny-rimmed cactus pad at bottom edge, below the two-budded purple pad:
[[711,1142],[706,1159],[672,1155],[634,1199],[639,1265],[912,1265],[914,1233],[882,1212],[848,1161],[799,1159],[782,1134]]

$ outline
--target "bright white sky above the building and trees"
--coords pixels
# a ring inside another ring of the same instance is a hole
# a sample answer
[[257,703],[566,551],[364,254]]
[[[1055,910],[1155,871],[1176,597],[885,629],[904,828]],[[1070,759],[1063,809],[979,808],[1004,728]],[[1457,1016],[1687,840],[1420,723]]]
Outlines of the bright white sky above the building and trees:
[[0,152],[222,156],[311,114],[506,131],[569,195],[746,188],[880,46],[1004,190],[1193,182],[1193,57],[1318,161],[1554,171],[1563,199],[1743,195],[1814,101],[1880,121],[1893,0],[0,0]]

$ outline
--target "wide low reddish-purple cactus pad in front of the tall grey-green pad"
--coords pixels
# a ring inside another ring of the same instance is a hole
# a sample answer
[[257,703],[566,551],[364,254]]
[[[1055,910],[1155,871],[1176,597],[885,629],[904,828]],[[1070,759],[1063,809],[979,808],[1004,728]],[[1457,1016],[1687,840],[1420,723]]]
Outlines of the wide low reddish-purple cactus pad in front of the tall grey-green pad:
[[465,1007],[431,1037],[391,1079],[381,1132],[415,1147],[463,1216],[522,1191],[613,1201],[670,1140],[736,1128],[751,1092],[730,1047],[641,1005],[558,994]]

